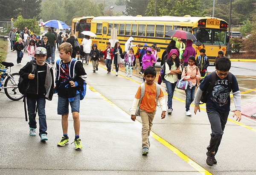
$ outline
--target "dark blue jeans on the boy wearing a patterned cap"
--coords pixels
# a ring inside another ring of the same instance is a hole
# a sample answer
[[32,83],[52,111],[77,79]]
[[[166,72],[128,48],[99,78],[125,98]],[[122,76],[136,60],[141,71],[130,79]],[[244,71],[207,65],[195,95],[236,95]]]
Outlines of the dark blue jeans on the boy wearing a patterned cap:
[[35,110],[38,108],[38,117],[39,117],[39,135],[47,134],[47,123],[46,123],[46,115],[45,115],[45,99],[31,99],[26,97],[26,102],[28,106],[29,113],[29,127],[36,128],[36,120],[35,120]]

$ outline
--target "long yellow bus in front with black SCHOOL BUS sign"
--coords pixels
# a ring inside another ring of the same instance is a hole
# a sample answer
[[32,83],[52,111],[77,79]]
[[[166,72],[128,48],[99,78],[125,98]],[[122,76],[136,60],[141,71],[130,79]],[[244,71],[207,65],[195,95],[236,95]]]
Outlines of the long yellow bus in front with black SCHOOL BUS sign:
[[[206,54],[213,65],[215,57],[219,50],[226,51],[227,44],[227,27],[226,21],[215,17],[142,17],[142,16],[119,16],[119,17],[94,17],[91,20],[91,30],[97,35],[91,38],[98,48],[106,48],[106,42],[111,38],[111,29],[117,29],[117,39],[124,51],[125,42],[129,37],[134,38],[133,44],[147,43],[149,46],[157,43],[161,48],[158,52],[159,58],[166,55],[166,48],[171,41],[171,37],[166,36],[166,32],[177,29],[189,31],[200,38],[201,46],[196,46],[194,41],[193,47],[197,55],[199,50],[204,48]],[[134,48],[137,51],[137,48]],[[158,61],[160,61],[160,59]]]

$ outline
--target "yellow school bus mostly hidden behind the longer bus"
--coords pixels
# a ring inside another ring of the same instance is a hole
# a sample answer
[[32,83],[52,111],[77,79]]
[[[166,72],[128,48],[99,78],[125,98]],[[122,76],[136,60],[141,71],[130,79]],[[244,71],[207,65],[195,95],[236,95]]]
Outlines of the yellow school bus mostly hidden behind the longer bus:
[[77,37],[78,42],[81,44],[84,35],[81,34],[82,31],[90,31],[91,29],[91,17],[77,17],[72,20],[72,31]]

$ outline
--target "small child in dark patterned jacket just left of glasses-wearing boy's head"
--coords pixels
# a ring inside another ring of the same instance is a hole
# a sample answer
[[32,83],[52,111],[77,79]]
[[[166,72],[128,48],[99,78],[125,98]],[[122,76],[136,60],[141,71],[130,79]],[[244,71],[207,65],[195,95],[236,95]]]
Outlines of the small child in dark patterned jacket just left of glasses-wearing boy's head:
[[204,79],[204,77],[207,75],[207,67],[209,66],[209,59],[205,54],[205,49],[201,48],[199,50],[200,55],[196,58],[196,62],[201,74],[201,79]]

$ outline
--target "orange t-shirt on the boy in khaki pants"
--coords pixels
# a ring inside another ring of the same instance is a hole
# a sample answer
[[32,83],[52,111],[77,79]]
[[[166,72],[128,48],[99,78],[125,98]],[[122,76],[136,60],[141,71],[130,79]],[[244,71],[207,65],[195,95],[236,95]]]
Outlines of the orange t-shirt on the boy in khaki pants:
[[[137,93],[135,95],[136,99],[140,99],[140,86],[137,90]],[[157,103],[156,103],[156,96],[157,96],[157,85],[154,83],[153,85],[147,85],[145,83],[145,93],[144,97],[141,99],[140,103],[140,109],[145,110],[148,113],[152,113],[156,110],[157,108]],[[163,97],[163,91],[160,89],[160,95],[158,98]]]

